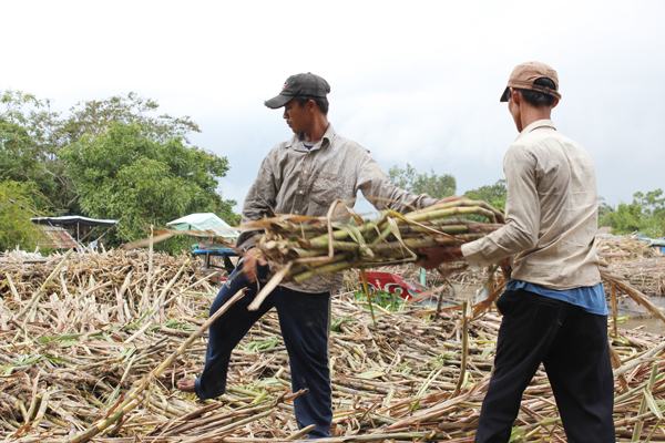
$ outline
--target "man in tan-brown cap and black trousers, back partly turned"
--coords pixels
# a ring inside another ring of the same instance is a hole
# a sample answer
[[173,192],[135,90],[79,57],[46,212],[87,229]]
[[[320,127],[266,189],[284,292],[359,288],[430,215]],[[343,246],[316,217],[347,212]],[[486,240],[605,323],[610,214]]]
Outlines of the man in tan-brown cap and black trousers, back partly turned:
[[556,131],[561,95],[544,63],[518,65],[502,102],[520,132],[503,159],[505,225],[460,247],[421,251],[423,265],[512,257],[477,442],[508,442],[522,393],[544,364],[569,442],[614,442],[607,306],[595,249],[597,195],[589,153]]

